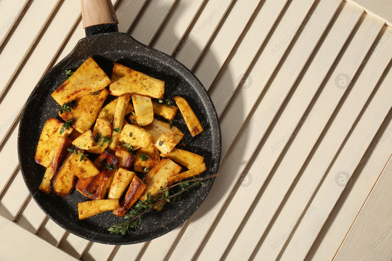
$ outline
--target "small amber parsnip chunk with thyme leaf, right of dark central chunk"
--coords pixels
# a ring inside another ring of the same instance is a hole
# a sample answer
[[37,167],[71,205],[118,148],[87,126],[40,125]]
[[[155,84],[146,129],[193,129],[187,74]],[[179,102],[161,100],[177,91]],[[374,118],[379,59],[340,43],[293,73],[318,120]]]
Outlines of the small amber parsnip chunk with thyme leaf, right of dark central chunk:
[[159,151],[156,146],[151,143],[148,148],[141,148],[136,151],[134,162],[135,171],[144,172],[145,169],[151,169],[159,160]]

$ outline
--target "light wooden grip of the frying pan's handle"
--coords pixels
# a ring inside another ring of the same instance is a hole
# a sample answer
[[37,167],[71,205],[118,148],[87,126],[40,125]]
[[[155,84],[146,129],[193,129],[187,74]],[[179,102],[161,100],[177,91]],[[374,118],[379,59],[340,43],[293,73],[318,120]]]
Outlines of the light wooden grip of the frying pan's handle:
[[111,0],[80,0],[83,28],[104,23],[118,23]]

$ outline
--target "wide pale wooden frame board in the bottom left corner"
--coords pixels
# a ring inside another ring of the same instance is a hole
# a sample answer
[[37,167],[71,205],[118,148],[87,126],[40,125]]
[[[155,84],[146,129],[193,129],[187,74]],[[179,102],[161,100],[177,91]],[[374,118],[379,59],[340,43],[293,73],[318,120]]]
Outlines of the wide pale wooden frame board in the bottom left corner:
[[2,216],[0,216],[0,229],[2,260],[53,261],[53,257],[61,261],[77,260]]

